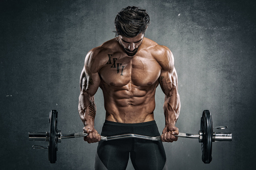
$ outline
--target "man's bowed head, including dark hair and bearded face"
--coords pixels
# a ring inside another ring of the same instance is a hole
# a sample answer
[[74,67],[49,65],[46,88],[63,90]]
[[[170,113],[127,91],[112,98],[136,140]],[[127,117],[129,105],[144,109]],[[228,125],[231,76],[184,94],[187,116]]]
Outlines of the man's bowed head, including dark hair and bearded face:
[[137,53],[148,25],[149,15],[138,7],[126,7],[117,14],[115,33],[127,55],[134,56]]

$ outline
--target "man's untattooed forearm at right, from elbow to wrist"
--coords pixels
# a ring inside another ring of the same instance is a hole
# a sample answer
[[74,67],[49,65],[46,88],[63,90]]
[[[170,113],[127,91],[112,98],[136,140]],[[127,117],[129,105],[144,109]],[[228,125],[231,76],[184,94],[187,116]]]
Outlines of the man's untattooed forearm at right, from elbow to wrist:
[[171,94],[165,96],[164,100],[164,116],[165,116],[165,126],[175,125],[179,117],[180,110],[180,100],[179,94]]

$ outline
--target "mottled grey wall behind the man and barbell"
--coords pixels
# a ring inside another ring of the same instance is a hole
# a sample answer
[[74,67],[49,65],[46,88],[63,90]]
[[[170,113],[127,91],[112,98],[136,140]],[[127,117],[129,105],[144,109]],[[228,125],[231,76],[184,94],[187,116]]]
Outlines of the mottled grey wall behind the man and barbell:
[[[225,125],[232,142],[213,143],[213,160],[201,161],[197,139],[164,143],[169,169],[255,168],[255,2],[252,1],[1,1],[1,169],[93,169],[97,143],[63,139],[57,161],[32,149],[28,132],[48,131],[56,109],[62,133],[82,132],[77,105],[87,52],[114,37],[113,20],[126,6],[145,8],[146,37],[174,55],[181,100],[177,127],[198,133],[204,109],[214,126]],[[102,91],[96,94],[96,128],[104,121]],[[161,132],[164,95],[156,94]],[[216,130],[217,132],[220,130]],[[133,169],[131,163],[127,169]]]

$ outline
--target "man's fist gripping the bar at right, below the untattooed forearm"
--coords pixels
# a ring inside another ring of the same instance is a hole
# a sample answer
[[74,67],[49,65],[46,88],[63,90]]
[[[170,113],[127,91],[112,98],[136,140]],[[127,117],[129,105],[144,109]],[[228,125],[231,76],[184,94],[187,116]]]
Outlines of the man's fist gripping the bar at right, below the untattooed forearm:
[[174,136],[176,134],[179,134],[179,129],[174,125],[168,125],[163,130],[163,134],[161,135],[161,140],[163,142],[177,141],[178,137]]

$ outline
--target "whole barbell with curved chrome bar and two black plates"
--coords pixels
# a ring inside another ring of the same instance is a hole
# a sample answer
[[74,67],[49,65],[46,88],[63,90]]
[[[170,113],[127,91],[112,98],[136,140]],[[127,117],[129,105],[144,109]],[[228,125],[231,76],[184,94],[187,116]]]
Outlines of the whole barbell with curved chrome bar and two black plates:
[[[29,132],[29,140],[45,140],[48,141],[48,147],[33,145],[33,148],[48,148],[48,158],[50,163],[55,163],[57,159],[57,144],[63,138],[85,137],[87,133],[71,133],[61,134],[61,130],[57,129],[57,114],[56,110],[51,110],[49,115],[50,131],[48,132]],[[179,133],[174,135],[177,137],[198,138],[202,143],[202,160],[204,163],[212,161],[212,142],[214,141],[232,141],[232,133],[216,133],[213,131],[212,115],[209,110],[204,110],[201,117],[199,134]],[[218,126],[218,129],[225,129],[226,126]],[[115,140],[123,138],[140,138],[146,140],[157,141],[161,140],[161,136],[145,136],[141,134],[120,134],[115,136],[101,136],[101,140]]]

